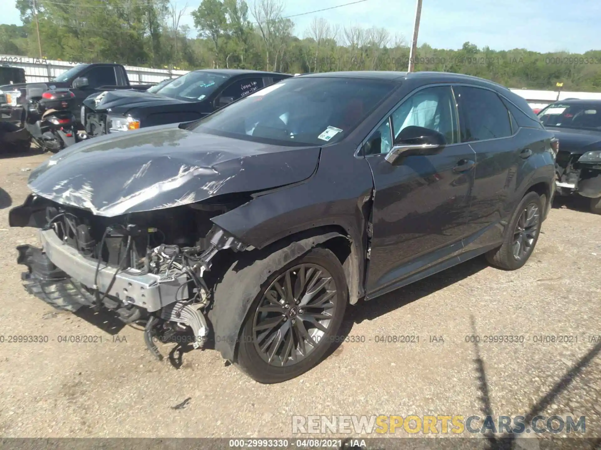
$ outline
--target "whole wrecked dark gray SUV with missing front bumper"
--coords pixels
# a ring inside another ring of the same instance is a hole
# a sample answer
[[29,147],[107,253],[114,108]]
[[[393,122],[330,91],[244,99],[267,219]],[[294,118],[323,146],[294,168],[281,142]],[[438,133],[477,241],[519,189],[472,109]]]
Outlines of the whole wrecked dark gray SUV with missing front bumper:
[[186,335],[255,380],[318,364],[347,304],[480,254],[520,268],[554,195],[525,100],[448,73],[308,74],[206,118],[104,136],[31,173],[28,291]]

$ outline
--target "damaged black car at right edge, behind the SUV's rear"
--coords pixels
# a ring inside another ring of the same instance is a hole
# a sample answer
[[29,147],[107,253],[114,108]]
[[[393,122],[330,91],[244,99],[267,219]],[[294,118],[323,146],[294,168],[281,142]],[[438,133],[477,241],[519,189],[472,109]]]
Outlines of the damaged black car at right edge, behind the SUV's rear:
[[601,100],[562,100],[538,113],[559,140],[557,193],[590,198],[601,214]]

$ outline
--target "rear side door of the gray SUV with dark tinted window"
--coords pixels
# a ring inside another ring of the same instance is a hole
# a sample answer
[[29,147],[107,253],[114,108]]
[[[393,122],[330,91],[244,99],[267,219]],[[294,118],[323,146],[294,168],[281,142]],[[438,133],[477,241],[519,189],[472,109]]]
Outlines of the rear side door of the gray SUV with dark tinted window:
[[517,171],[529,153],[526,143],[516,139],[517,124],[495,91],[466,85],[453,89],[462,142],[469,143],[476,154],[474,197],[466,224],[469,251],[502,238],[498,224],[510,213],[511,193],[519,182]]

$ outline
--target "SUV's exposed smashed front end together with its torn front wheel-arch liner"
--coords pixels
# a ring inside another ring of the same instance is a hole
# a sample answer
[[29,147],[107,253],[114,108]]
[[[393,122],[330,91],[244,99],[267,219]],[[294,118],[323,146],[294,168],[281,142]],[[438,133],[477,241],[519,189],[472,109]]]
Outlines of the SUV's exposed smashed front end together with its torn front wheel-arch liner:
[[[191,330],[188,342],[198,348],[212,331],[215,349],[233,361],[242,323],[269,274],[316,245],[349,239],[310,230],[255,248],[211,221],[248,202],[248,193],[213,197],[172,208],[168,217],[148,211],[107,221],[31,194],[11,210],[10,224],[41,229],[43,248],[19,248],[32,295],[64,310],[108,308],[123,322],[145,325],[145,342],[159,359],[157,338],[174,342]],[[162,244],[151,245],[156,236]],[[115,245],[116,259],[102,253]]]

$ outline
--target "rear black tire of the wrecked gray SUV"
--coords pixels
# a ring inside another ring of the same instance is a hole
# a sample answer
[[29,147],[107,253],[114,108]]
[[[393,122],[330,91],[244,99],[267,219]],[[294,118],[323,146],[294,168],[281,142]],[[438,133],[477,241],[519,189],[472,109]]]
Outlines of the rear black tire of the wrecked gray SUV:
[[[535,223],[535,227],[527,227],[524,232],[523,229],[523,217],[524,214],[528,214],[528,211],[531,206],[534,206],[537,209],[537,221]],[[503,239],[503,244],[501,247],[495,248],[495,250],[490,250],[486,253],[486,260],[490,263],[490,265],[498,267],[500,269],[505,270],[516,270],[522,267],[528,258],[534,251],[534,247],[536,242],[538,241],[538,236],[540,235],[540,226],[542,224],[544,214],[544,207],[540,200],[540,196],[538,196],[535,192],[527,193],[520,203],[517,205],[517,208],[513,212],[511,216],[511,222],[509,224],[507,233],[505,233],[505,238]],[[522,230],[522,231],[520,231]],[[532,233],[529,235],[528,233]],[[519,258],[516,256],[516,236],[521,239],[520,242],[520,251]],[[526,242],[528,241],[528,242]],[[525,253],[522,253],[523,249],[526,249]]]

